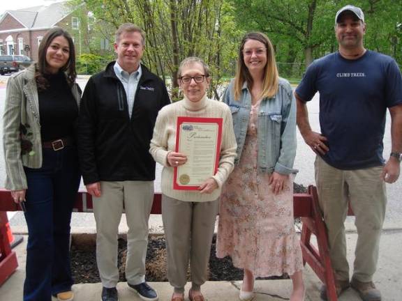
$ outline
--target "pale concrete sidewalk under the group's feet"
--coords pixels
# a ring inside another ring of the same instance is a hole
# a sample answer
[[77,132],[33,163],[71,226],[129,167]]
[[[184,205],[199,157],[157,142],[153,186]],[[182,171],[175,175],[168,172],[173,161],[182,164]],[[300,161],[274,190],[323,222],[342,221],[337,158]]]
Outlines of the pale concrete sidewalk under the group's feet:
[[[352,265],[352,250],[355,249],[357,234],[348,231],[348,254],[350,266]],[[19,268],[0,287],[0,300],[22,300],[22,284],[24,282],[24,268],[26,258],[27,236],[24,235],[22,244],[15,247]],[[382,292],[382,300],[396,301],[402,298],[402,229],[385,229],[380,244],[380,259],[378,272],[375,274],[375,284]],[[319,301],[320,280],[315,276],[310,267],[304,269],[304,281],[306,283],[306,301]],[[170,301],[172,287],[168,282],[150,283],[158,291],[159,300]],[[186,286],[188,293],[189,284]],[[238,299],[241,281],[208,281],[202,286],[202,293],[209,301],[235,301]],[[257,280],[255,283],[255,301],[289,300],[292,283],[290,280]],[[101,300],[101,284],[75,284],[75,301],[99,301]],[[119,300],[135,301],[140,298],[131,291],[126,283],[119,283]],[[188,300],[188,299],[186,299]],[[340,301],[359,301],[359,296],[351,288],[345,291]]]

